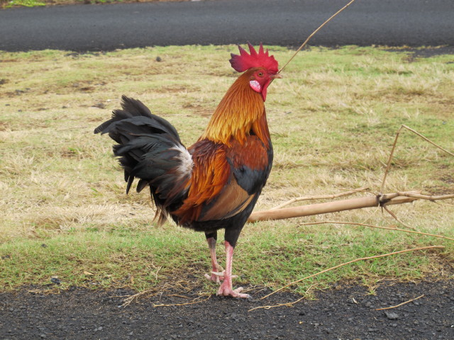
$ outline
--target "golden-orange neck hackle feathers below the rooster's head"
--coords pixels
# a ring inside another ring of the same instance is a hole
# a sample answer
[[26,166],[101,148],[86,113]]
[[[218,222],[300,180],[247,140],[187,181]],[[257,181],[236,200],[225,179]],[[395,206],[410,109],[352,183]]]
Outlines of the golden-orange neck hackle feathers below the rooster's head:
[[241,145],[252,131],[268,146],[268,131],[265,103],[262,95],[250,89],[249,81],[253,69],[238,77],[223,96],[200,139],[231,145],[231,139]]

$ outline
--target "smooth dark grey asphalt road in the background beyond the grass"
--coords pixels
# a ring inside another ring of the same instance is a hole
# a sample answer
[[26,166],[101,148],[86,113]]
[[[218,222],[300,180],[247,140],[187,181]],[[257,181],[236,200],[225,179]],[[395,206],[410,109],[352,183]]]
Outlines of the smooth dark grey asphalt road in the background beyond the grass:
[[[298,46],[346,0],[212,0],[0,10],[0,50],[250,41]],[[453,0],[357,0],[311,45],[454,45]]]

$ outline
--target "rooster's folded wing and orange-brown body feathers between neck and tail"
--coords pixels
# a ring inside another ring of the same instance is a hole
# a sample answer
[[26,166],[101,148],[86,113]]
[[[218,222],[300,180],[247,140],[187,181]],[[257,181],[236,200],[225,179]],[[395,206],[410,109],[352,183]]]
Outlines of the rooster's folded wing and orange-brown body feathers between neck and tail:
[[271,169],[272,151],[255,135],[230,146],[200,140],[189,148],[194,167],[188,196],[172,212],[181,224],[225,220],[260,195]]

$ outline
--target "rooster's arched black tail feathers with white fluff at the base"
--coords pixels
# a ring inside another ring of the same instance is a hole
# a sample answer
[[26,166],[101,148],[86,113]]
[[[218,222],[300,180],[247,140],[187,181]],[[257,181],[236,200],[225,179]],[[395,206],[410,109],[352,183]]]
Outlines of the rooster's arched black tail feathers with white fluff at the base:
[[191,156],[177,130],[164,118],[153,115],[142,102],[122,96],[121,107],[94,133],[109,133],[118,143],[113,149],[124,169],[126,193],[135,178],[139,179],[138,192],[149,185],[162,221],[165,212],[175,210],[187,195],[185,182],[192,171],[185,170],[182,163],[192,162]]

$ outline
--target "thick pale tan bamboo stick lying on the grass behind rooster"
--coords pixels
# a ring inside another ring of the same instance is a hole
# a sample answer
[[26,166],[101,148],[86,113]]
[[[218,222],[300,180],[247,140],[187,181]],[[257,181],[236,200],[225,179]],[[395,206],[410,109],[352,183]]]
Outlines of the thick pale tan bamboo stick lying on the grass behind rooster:
[[[416,195],[419,192],[411,191],[409,193]],[[418,198],[416,197],[399,196],[397,193],[387,193],[382,196],[367,196],[350,198],[348,200],[335,200],[333,202],[301,205],[299,207],[253,212],[249,216],[248,222],[284,220],[292,217],[321,215],[329,212],[378,207],[380,205],[411,203],[417,199]]]

